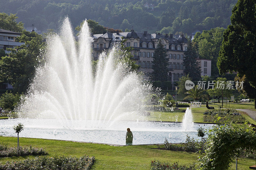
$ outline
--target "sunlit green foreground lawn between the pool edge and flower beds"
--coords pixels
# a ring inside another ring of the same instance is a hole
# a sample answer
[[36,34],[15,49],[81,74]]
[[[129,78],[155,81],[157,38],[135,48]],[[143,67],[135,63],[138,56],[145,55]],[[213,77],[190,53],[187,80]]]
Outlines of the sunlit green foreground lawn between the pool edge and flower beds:
[[[0,142],[16,146],[17,138],[0,137]],[[92,169],[150,169],[150,161],[179,161],[188,164],[197,161],[198,153],[176,152],[154,149],[156,145],[139,146],[109,146],[105,144],[88,144],[70,141],[45,140],[35,138],[20,138],[20,145],[43,147],[49,152],[50,157],[55,155],[72,155],[80,157],[84,154],[95,156],[96,161]],[[0,158],[5,163],[7,160],[32,158],[33,156]],[[238,169],[248,169],[255,164],[253,159],[239,159]],[[235,168],[235,162],[232,163]]]

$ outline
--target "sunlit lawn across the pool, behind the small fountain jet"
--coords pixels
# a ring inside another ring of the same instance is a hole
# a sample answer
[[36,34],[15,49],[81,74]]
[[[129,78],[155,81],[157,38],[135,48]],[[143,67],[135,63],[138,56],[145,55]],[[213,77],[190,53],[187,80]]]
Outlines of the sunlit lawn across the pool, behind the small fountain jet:
[[[217,107],[216,107],[217,108]],[[182,113],[182,110],[186,108],[180,108],[180,110],[174,110],[173,112],[150,112],[150,116],[147,116],[147,120],[150,121],[171,121],[171,122],[182,122],[185,113]],[[191,107],[193,121],[194,122],[204,122],[204,111],[207,108],[202,107]],[[245,119],[249,123],[256,123],[250,116],[241,112],[241,114],[245,117]]]

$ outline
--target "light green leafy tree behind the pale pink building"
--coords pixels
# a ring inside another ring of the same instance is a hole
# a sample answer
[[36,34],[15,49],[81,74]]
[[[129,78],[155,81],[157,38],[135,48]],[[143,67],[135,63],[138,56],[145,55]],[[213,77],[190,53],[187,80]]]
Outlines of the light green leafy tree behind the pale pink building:
[[[223,41],[224,28],[213,28],[196,34],[193,42],[196,42],[200,58],[212,60],[212,76],[217,76],[219,70],[217,68],[217,60],[219,57],[220,46]],[[200,34],[200,35],[199,35]]]

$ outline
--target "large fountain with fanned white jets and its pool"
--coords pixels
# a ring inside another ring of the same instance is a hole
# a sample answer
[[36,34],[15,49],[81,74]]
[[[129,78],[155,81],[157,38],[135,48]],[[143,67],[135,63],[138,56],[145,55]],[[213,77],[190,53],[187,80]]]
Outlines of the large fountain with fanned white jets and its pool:
[[60,30],[38,58],[41,64],[17,108],[20,118],[1,120],[0,135],[15,136],[12,127],[21,122],[21,137],[125,144],[126,128],[133,132],[133,144],[196,137],[199,124],[193,124],[190,109],[183,124],[146,121],[143,106],[152,86],[121,62],[118,47],[102,53],[94,67],[86,22],[78,41],[68,18]]

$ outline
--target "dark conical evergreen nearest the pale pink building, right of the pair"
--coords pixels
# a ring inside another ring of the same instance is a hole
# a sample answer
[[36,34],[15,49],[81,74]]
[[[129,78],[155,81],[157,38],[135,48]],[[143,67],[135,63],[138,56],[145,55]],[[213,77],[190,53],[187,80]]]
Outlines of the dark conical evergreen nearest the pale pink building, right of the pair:
[[197,53],[196,48],[191,42],[191,37],[188,41],[188,50],[184,53],[183,66],[184,74],[192,78],[193,81],[199,81],[201,79],[201,70],[196,61]]

